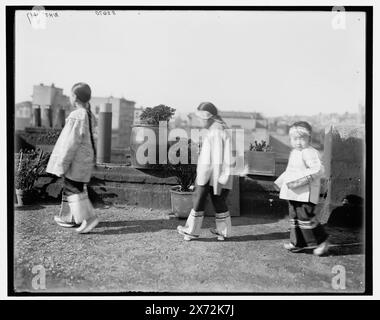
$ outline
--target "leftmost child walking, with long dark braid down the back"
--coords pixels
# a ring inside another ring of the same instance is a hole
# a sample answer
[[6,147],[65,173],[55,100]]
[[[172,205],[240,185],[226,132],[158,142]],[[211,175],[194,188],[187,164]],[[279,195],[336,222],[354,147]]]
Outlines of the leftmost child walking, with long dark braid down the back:
[[88,233],[99,223],[84,192],[96,158],[90,99],[88,84],[80,82],[73,86],[70,102],[76,109],[67,117],[46,169],[63,177],[61,212],[54,220],[63,227],[78,226],[78,233]]

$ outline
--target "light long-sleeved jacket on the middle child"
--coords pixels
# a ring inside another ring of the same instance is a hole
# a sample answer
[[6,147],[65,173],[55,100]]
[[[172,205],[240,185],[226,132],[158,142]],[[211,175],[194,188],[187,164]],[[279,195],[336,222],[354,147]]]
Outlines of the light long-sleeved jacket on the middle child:
[[203,136],[202,147],[197,163],[198,185],[208,182],[219,195],[222,189],[232,189],[232,141],[223,124],[214,122]]

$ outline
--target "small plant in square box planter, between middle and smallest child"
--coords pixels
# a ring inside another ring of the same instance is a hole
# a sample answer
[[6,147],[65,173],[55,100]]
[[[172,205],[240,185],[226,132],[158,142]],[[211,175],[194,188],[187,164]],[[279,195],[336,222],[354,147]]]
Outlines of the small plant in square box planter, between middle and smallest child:
[[245,165],[248,174],[274,176],[276,168],[275,153],[266,141],[250,143],[249,151],[245,152]]

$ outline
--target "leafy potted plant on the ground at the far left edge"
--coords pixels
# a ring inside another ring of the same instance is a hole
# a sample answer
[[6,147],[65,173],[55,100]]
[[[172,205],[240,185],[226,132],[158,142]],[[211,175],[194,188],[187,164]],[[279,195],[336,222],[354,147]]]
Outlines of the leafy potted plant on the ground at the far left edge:
[[16,153],[15,189],[18,205],[30,204],[33,186],[45,170],[49,155],[43,151],[20,151]]

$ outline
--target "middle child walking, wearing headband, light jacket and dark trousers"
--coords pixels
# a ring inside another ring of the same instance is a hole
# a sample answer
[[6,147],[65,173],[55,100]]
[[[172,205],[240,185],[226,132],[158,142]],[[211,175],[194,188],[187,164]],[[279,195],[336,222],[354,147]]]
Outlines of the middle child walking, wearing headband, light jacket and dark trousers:
[[226,123],[218,115],[218,110],[212,103],[201,103],[196,115],[203,128],[207,129],[207,134],[203,137],[198,157],[193,209],[186,225],[178,226],[177,230],[186,241],[199,237],[206,199],[210,194],[216,212],[216,229],[210,231],[222,241],[231,235],[231,216],[226,205],[227,195],[232,189],[231,137],[225,130]]

